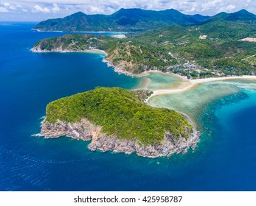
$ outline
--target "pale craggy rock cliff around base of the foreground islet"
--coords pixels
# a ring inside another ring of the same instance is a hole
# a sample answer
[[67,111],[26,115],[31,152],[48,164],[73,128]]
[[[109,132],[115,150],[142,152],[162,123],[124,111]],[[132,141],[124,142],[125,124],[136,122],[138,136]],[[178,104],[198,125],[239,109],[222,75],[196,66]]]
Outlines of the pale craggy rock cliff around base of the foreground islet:
[[189,138],[173,138],[170,133],[165,133],[162,143],[143,146],[139,141],[131,141],[117,138],[114,135],[105,135],[100,126],[94,126],[88,120],[83,118],[80,122],[70,124],[63,121],[56,121],[51,124],[44,120],[41,125],[41,133],[38,136],[45,138],[59,138],[67,136],[77,140],[91,141],[89,149],[91,151],[101,150],[103,152],[125,152],[131,154],[136,152],[142,157],[163,157],[174,153],[186,153],[190,147],[193,149],[198,142],[198,135],[194,129]]

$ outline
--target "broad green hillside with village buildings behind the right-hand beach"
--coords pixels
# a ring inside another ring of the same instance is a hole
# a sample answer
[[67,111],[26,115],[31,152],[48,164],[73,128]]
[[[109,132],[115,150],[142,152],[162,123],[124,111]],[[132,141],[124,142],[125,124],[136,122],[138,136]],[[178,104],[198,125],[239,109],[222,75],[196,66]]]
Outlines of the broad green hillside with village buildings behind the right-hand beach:
[[235,21],[212,21],[196,26],[165,26],[131,37],[142,44],[163,48],[176,57],[177,65],[170,65],[173,73],[190,78],[254,75],[255,42],[241,41],[255,38],[256,25]]

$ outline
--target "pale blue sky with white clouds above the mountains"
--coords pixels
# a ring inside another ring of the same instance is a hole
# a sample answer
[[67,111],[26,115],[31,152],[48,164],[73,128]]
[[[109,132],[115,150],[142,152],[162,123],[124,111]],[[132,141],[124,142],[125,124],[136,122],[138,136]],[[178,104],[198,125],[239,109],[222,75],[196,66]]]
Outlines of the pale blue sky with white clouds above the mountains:
[[256,13],[255,0],[0,0],[0,21],[42,21],[81,11],[111,14],[120,8],[176,9],[185,14],[215,15],[246,9]]

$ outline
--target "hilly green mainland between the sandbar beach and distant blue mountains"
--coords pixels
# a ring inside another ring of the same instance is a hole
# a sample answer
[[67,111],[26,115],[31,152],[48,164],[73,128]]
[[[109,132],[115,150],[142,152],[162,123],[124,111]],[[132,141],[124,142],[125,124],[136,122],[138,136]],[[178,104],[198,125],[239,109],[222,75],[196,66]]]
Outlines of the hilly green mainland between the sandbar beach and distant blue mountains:
[[255,22],[256,15],[241,10],[215,15],[200,24],[173,24],[127,33],[127,38],[122,39],[104,35],[63,35],[39,41],[32,51],[103,50],[108,65],[129,75],[151,70],[188,79],[255,75],[256,43],[252,40],[256,34]]

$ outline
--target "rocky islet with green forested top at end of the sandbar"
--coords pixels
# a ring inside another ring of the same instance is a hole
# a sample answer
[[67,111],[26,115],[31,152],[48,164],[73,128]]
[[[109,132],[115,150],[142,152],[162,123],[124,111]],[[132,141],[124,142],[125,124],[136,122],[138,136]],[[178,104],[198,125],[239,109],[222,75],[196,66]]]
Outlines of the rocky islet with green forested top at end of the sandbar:
[[58,99],[46,107],[39,136],[91,141],[91,151],[136,152],[142,157],[186,153],[199,133],[187,116],[150,107],[147,90],[95,88]]

